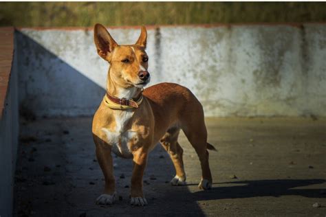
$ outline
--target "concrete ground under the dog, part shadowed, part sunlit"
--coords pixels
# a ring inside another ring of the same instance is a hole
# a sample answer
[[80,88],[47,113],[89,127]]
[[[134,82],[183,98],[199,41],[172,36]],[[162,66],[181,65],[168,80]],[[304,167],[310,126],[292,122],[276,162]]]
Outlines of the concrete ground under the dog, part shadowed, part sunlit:
[[[146,207],[129,205],[132,161],[114,158],[119,200],[95,205],[104,186],[91,118],[21,122],[14,216],[325,216],[326,119],[207,119],[213,189],[197,189],[200,167],[184,135],[188,185],[174,187],[157,146],[144,174]],[[316,207],[314,207],[314,206]]]

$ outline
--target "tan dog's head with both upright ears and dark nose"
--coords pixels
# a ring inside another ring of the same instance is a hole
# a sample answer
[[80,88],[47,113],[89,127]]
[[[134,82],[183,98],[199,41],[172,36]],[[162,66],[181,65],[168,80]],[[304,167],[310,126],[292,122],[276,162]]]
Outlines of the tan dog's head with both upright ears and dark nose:
[[149,83],[147,71],[149,57],[146,49],[146,28],[134,45],[118,45],[107,29],[100,24],[94,27],[94,42],[98,55],[110,63],[110,78],[122,87],[144,87]]

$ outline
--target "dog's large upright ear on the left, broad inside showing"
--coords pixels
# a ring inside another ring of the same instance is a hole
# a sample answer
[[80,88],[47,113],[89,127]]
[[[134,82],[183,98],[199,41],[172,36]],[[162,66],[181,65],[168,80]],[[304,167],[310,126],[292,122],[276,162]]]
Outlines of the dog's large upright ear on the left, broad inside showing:
[[98,55],[108,61],[113,49],[118,46],[109,32],[107,32],[107,29],[100,23],[96,23],[94,26],[94,43]]

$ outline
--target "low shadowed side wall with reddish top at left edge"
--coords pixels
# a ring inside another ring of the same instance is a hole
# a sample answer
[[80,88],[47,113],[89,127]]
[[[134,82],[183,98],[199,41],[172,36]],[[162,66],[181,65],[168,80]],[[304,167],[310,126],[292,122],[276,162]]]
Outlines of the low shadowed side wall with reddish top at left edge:
[[0,216],[12,216],[19,136],[17,56],[14,29],[0,28]]

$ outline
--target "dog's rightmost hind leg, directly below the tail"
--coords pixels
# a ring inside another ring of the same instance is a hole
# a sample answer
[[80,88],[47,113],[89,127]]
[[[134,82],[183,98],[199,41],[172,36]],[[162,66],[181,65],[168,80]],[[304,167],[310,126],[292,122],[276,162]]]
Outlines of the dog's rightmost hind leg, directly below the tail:
[[197,117],[184,119],[182,122],[182,130],[188,138],[189,142],[195,148],[202,167],[202,180],[198,187],[200,189],[210,189],[212,187],[212,175],[208,163],[207,148],[207,130],[204,122],[204,114],[197,113]]

